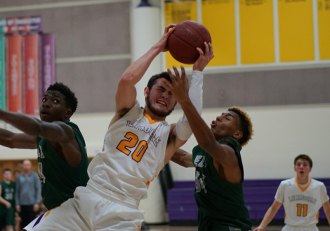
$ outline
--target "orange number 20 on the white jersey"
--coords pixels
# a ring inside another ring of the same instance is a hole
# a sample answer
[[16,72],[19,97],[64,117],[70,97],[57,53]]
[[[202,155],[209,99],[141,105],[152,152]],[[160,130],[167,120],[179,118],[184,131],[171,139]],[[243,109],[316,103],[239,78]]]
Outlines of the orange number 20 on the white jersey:
[[[124,137],[125,139],[122,139],[116,148],[126,156],[132,154],[132,159],[140,162],[148,149],[148,142],[146,140],[139,141],[139,137],[132,132],[127,132]],[[134,148],[133,151],[130,150],[132,148]]]

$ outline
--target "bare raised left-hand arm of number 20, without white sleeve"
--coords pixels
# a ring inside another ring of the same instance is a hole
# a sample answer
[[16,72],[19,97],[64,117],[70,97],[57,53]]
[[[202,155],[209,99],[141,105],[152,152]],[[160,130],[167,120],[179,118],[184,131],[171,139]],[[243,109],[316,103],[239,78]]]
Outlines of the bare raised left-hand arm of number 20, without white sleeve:
[[142,79],[155,57],[161,52],[166,51],[167,38],[173,32],[173,30],[171,30],[173,27],[173,24],[165,27],[164,34],[160,40],[144,55],[134,61],[122,74],[117,86],[116,114],[112,123],[121,118],[134,106],[137,95],[135,84]]

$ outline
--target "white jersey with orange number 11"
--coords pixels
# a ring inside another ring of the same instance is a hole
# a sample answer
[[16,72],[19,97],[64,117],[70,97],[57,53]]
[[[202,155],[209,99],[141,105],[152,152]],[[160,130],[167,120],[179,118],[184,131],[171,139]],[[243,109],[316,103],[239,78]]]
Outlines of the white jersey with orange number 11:
[[323,203],[329,200],[324,184],[310,179],[305,187],[291,178],[281,182],[275,200],[283,203],[284,222],[290,226],[310,226],[318,223],[318,213]]

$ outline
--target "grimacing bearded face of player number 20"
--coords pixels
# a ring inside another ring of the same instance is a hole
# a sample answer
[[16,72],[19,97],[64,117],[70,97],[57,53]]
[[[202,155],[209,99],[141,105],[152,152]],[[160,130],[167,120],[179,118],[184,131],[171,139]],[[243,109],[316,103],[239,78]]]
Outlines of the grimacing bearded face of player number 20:
[[177,101],[169,84],[166,79],[161,78],[146,91],[146,105],[155,116],[166,117],[176,105]]

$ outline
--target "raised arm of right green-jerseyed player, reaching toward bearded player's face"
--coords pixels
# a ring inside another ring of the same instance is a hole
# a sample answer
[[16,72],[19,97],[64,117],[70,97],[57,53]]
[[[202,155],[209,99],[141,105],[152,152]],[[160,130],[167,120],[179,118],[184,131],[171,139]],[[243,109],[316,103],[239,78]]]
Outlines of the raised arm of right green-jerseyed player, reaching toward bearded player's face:
[[[178,75],[168,70],[171,75],[173,92],[188,118],[189,125],[198,144],[213,157],[213,164],[220,177],[230,183],[241,181],[241,170],[234,149],[229,145],[219,144],[213,132],[199,115],[188,96],[188,83],[185,75]],[[181,72],[184,69],[181,68]]]

